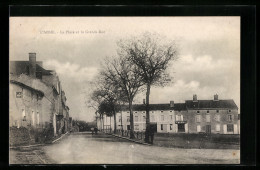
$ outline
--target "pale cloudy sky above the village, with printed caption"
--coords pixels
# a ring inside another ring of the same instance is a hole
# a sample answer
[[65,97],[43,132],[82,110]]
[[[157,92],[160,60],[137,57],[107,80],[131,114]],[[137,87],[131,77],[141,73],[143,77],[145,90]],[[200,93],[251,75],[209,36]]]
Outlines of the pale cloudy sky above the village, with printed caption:
[[[119,39],[156,32],[178,45],[174,77],[152,87],[150,103],[233,99],[240,108],[240,17],[10,17],[11,61],[30,52],[45,69],[56,70],[73,119],[92,121],[91,87],[106,57],[116,56]],[[138,94],[134,103],[142,103]]]

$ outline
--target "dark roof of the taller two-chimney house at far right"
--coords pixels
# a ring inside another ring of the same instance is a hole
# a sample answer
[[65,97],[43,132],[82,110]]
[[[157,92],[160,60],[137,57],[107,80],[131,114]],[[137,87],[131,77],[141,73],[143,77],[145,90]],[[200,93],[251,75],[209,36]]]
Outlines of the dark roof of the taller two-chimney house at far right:
[[193,102],[192,100],[186,100],[187,109],[213,109],[213,108],[227,108],[238,109],[234,100],[198,100]]

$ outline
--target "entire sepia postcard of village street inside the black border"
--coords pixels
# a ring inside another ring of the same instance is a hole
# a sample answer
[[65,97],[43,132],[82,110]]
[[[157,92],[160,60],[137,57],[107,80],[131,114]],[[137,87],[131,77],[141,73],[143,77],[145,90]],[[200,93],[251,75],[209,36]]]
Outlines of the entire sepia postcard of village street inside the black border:
[[240,24],[9,17],[9,164],[240,164]]

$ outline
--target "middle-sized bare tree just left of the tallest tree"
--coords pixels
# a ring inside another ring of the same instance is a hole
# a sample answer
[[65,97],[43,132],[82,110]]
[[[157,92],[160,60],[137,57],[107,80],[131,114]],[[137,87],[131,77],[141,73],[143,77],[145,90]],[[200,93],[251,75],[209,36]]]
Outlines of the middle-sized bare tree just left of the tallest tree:
[[130,111],[130,138],[134,138],[133,99],[143,85],[140,77],[133,70],[135,66],[125,58],[106,60],[101,75],[105,82],[116,89],[120,89],[126,96]]

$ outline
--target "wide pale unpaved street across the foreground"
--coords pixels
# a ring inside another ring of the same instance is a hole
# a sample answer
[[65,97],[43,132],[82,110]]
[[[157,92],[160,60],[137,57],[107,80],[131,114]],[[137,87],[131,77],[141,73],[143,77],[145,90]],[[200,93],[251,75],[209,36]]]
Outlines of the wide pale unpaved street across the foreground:
[[239,160],[239,150],[146,146],[90,133],[72,133],[51,145],[10,150],[10,164],[238,164]]

